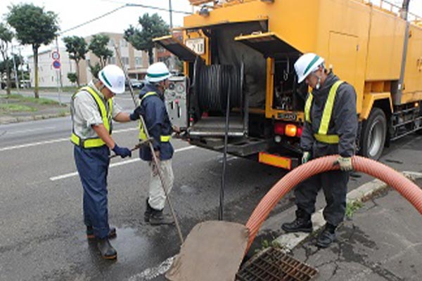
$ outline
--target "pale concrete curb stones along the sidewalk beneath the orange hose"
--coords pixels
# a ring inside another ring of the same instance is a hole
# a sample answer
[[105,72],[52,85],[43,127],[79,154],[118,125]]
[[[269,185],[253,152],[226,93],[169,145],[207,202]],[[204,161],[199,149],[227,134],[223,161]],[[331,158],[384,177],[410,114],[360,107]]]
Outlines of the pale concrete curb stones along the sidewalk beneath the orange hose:
[[[414,172],[414,171],[403,171],[402,174],[409,178],[411,181],[415,181],[418,178],[422,178],[422,173]],[[363,185],[359,186],[349,193],[347,193],[347,203],[350,202],[365,202],[369,200],[373,195],[377,192],[388,188],[388,184],[375,179],[373,181],[369,181],[368,183],[364,183]],[[292,207],[290,209],[293,209]],[[324,227],[326,221],[324,220],[324,216],[322,211],[324,209],[319,209],[314,214],[312,214],[312,225],[314,226],[314,231],[312,233],[284,233],[273,240],[273,243],[278,244],[282,251],[285,253],[291,252],[298,244],[302,243],[314,233],[321,230]]]

